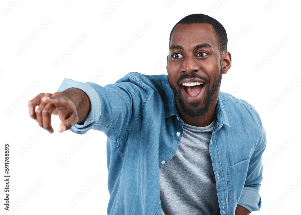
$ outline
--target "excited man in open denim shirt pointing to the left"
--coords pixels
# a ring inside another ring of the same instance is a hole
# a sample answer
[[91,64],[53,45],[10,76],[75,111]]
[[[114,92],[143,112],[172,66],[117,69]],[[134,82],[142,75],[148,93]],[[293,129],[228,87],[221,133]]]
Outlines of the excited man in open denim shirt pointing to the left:
[[167,76],[131,72],[104,87],[64,79],[29,101],[29,115],[50,133],[57,114],[59,132],[107,135],[108,214],[250,214],[261,206],[266,136],[249,103],[219,92],[226,48],[218,21],[189,15],[170,34]]

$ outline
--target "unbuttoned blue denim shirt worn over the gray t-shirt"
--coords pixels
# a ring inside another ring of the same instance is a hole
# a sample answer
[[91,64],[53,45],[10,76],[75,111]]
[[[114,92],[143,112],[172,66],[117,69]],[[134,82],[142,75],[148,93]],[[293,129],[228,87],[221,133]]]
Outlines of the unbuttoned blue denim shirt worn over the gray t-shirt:
[[[71,87],[88,95],[91,109],[84,125],[70,130],[96,129],[107,136],[108,214],[161,214],[159,169],[177,151],[184,124],[167,75],[131,72],[106,86],[64,79],[58,92]],[[259,115],[223,92],[216,106],[209,152],[221,214],[234,214],[237,204],[259,210],[266,145]]]

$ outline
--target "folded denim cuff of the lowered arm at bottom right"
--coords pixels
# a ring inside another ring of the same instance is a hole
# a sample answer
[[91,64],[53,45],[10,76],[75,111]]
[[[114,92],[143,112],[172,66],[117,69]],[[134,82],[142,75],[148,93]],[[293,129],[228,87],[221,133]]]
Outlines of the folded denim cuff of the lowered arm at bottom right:
[[256,189],[244,187],[238,204],[247,208],[250,212],[259,210],[261,207],[261,197]]

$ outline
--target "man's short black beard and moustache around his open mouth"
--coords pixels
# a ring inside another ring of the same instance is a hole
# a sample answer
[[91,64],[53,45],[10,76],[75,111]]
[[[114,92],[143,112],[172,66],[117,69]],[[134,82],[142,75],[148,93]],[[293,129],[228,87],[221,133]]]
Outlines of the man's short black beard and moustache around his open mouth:
[[[178,86],[179,86],[180,81],[185,79],[185,78],[200,78],[200,79],[205,80],[206,83],[208,83],[208,79],[205,78],[205,77],[201,77],[199,75],[196,75],[196,73],[191,73],[191,75],[186,73],[185,75],[181,76],[178,79],[178,81],[177,81]],[[213,101],[214,96],[219,92],[221,82],[222,82],[222,65],[221,65],[221,70],[220,70],[220,73],[219,73],[219,78],[213,84],[212,89],[207,88],[207,93],[205,95],[203,105],[201,107],[199,107],[199,105],[200,105],[199,101],[190,102],[188,104],[185,103],[184,99],[183,99],[183,96],[182,96],[182,93],[178,92],[175,89],[175,86],[170,84],[169,78],[167,78],[167,80],[168,80],[168,83],[169,83],[173,93],[175,94],[176,100],[178,100],[178,102],[179,102],[179,104],[182,108],[182,111],[190,117],[200,117],[200,116],[205,115],[209,111],[209,108],[210,108],[211,102]]]

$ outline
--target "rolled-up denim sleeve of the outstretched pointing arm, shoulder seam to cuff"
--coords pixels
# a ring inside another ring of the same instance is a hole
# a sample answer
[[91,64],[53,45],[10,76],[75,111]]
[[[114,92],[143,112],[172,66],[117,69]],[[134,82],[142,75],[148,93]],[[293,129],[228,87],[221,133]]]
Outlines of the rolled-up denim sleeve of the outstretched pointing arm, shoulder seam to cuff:
[[64,79],[58,91],[69,88],[81,89],[90,100],[90,112],[84,124],[76,124],[70,130],[84,134],[89,129],[95,129],[111,139],[122,137],[129,131],[130,125],[137,122],[149,94],[144,82],[131,74],[106,86]]

